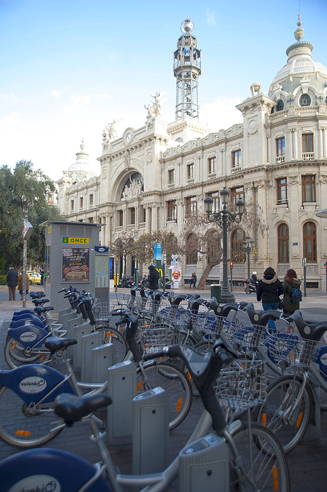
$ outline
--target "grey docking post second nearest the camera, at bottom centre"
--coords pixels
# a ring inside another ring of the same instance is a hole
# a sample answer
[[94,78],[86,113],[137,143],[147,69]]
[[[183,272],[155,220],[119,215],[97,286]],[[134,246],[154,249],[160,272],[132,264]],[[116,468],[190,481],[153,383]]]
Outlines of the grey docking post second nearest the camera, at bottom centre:
[[158,386],[136,396],[133,408],[133,474],[164,471],[169,456],[169,395]]

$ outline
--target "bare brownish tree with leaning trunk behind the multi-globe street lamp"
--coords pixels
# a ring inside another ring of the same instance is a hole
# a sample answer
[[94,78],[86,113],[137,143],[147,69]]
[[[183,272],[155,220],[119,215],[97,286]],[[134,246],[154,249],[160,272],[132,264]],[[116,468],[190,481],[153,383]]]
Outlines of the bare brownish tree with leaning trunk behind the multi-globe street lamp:
[[[236,207],[229,205],[227,210],[236,215]],[[228,230],[233,232],[237,228],[243,229],[245,235],[252,234],[252,237],[257,234],[264,236],[267,226],[263,219],[262,208],[257,202],[251,200],[246,203],[244,213],[240,223],[230,222]],[[185,244],[186,254],[193,257],[207,255],[207,266],[198,281],[197,288],[203,289],[207,281],[208,275],[212,268],[218,265],[223,259],[223,227],[219,221],[210,222],[207,215],[196,213],[186,217],[185,225],[182,229],[181,238]],[[228,261],[239,261],[243,255],[242,252],[232,251],[228,247],[231,256]]]

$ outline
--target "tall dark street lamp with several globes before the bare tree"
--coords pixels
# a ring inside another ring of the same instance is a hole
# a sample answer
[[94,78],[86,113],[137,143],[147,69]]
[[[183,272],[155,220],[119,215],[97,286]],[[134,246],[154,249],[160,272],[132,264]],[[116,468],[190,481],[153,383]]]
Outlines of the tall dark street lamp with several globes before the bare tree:
[[229,191],[226,186],[220,191],[220,197],[223,204],[223,210],[218,212],[212,212],[213,199],[211,196],[207,196],[204,200],[205,212],[207,214],[209,222],[219,222],[223,227],[223,282],[221,285],[221,302],[232,303],[235,301],[234,294],[232,294],[228,287],[227,277],[227,226],[232,222],[240,222],[244,211],[244,201],[239,198],[236,203],[237,215],[233,215],[227,210],[227,204],[229,199]]

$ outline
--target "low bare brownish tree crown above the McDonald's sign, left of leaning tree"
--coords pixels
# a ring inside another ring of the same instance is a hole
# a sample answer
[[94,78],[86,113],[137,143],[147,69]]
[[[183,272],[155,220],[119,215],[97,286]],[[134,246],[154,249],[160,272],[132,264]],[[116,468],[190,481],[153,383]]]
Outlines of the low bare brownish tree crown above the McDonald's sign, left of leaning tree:
[[141,234],[135,240],[133,256],[138,263],[149,263],[153,260],[153,246],[155,243],[160,243],[161,251],[166,253],[167,265],[170,265],[172,254],[181,255],[185,253],[185,248],[172,232],[151,231]]

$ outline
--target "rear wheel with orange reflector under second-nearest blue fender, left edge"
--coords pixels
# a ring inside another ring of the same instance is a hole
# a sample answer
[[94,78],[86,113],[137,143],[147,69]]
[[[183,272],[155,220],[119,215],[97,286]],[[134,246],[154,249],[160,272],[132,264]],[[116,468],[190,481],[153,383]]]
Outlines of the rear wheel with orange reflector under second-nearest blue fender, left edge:
[[63,424],[51,403],[28,407],[11,389],[0,386],[0,438],[10,446],[25,449],[46,444],[62,431]]

